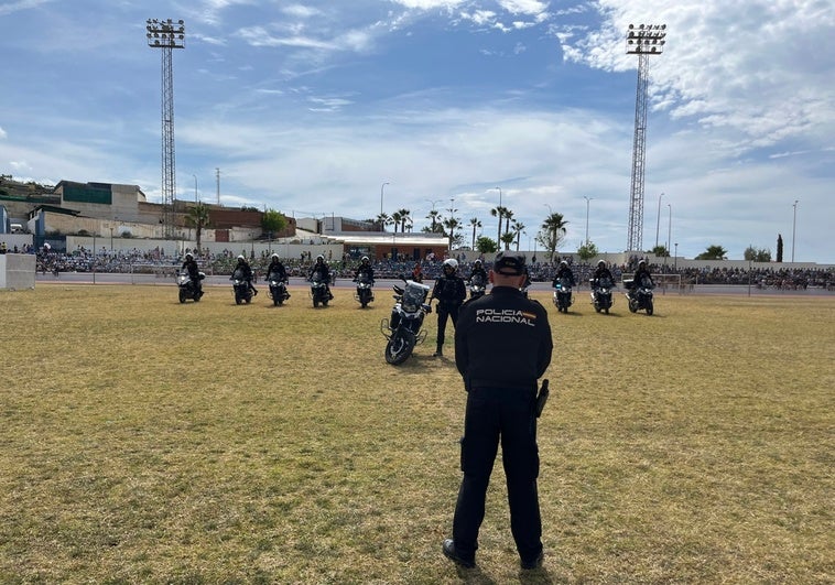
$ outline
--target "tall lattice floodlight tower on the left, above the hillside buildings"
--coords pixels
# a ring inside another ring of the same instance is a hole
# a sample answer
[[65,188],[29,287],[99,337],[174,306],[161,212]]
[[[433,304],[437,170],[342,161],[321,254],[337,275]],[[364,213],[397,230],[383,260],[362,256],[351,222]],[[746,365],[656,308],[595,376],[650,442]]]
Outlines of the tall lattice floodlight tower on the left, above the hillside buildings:
[[148,19],[148,46],[162,50],[162,225],[166,239],[174,236],[176,162],[174,155],[174,68],[172,48],[185,47],[182,20]]

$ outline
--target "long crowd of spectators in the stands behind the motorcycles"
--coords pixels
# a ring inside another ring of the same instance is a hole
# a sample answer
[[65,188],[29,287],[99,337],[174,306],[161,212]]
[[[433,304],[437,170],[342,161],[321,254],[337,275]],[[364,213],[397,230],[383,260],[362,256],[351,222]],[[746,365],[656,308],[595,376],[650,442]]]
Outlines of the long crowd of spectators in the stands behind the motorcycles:
[[[31,250],[30,250],[31,251]],[[79,247],[69,252],[53,252],[50,249],[37,251],[37,270],[41,272],[131,272],[131,273],[153,273],[159,275],[172,275],[181,267],[183,256],[189,250],[166,253],[164,249],[154,248],[153,250],[109,250],[105,247],[98,249],[96,253],[93,250]],[[246,254],[246,252],[243,252]],[[257,277],[263,275],[267,266],[270,263],[270,254],[263,252],[256,254],[250,252],[248,260]],[[356,267],[359,264],[361,254],[345,254],[341,258],[326,257],[330,271],[336,278],[353,278]],[[200,269],[207,274],[231,274],[238,253],[232,250],[224,250],[219,253],[197,254]],[[458,254],[456,259],[459,262],[459,272],[466,279],[473,271],[473,262],[468,261],[464,254]],[[594,273],[595,266],[588,262],[574,262],[571,257],[565,258],[578,283],[587,283]],[[434,280],[441,274],[441,267],[444,258],[426,258],[421,261],[406,259],[386,259],[372,263],[377,278],[399,278],[412,273],[415,264],[419,263],[423,275],[427,280]],[[612,264],[610,267],[616,281],[621,281],[623,275],[627,278],[635,270],[638,258],[630,258],[625,264]],[[299,258],[282,258],[286,266],[290,277],[306,278],[310,268],[313,266],[315,258],[310,253],[303,253]],[[560,266],[561,258],[554,258],[554,261],[541,261],[535,256],[531,258],[528,264],[530,279],[532,282],[550,282]],[[482,259],[485,268],[489,270],[490,262]],[[723,268],[687,268],[676,267],[675,264],[651,264],[650,271],[653,274],[677,274],[681,277],[683,285],[693,284],[751,284],[760,289],[774,288],[783,290],[799,290],[809,286],[835,289],[835,270],[832,269],[805,269],[805,268],[785,268],[774,266],[773,268],[755,268],[750,271],[745,268],[723,267]],[[750,280],[749,280],[750,279]]]

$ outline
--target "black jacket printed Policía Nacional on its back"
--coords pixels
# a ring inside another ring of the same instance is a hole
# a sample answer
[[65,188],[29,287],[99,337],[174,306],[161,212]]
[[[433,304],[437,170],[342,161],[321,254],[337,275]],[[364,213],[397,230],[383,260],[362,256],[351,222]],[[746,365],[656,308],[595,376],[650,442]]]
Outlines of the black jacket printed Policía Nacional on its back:
[[455,366],[470,388],[535,389],[551,364],[547,313],[512,286],[462,306],[455,324]]

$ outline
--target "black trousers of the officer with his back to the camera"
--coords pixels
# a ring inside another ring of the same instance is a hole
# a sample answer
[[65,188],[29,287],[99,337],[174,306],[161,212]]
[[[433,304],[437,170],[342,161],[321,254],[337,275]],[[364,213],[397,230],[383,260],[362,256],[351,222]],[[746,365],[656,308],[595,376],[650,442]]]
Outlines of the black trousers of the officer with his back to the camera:
[[464,479],[453,520],[455,549],[465,557],[474,556],[478,549],[478,529],[499,441],[517,551],[523,561],[533,561],[542,551],[534,401],[535,389],[474,388],[467,396],[460,462]]

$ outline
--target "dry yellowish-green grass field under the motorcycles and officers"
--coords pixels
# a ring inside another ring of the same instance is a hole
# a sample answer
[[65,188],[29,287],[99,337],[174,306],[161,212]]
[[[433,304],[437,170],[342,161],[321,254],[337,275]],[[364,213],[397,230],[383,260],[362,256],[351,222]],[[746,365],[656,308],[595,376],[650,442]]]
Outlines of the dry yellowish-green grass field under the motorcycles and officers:
[[522,575],[501,465],[479,567],[441,554],[465,393],[434,314],[395,368],[384,289],[261,290],[0,291],[0,583],[835,582],[835,297],[549,304]]

